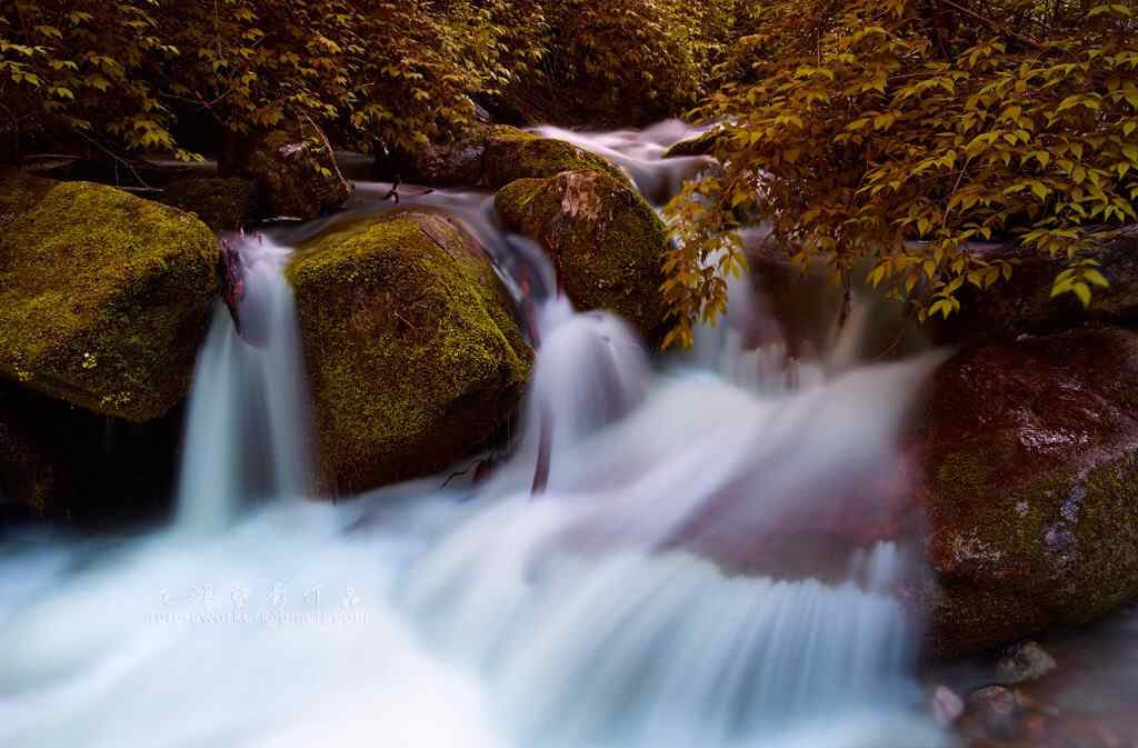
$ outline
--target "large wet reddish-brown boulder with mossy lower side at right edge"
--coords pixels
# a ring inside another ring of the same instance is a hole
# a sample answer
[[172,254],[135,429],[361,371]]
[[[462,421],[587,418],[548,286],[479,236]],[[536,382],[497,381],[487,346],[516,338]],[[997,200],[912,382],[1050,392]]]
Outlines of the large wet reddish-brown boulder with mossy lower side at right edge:
[[1086,329],[965,351],[924,436],[918,601],[956,656],[1138,598],[1138,335]]

